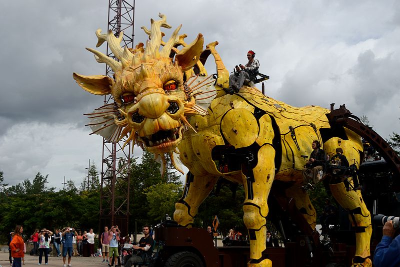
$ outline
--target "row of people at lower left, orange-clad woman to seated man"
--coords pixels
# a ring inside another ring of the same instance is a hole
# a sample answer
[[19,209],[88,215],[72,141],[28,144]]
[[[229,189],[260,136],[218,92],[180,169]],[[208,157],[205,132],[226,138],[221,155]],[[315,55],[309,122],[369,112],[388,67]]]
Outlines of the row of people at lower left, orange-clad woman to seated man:
[[[123,259],[121,258],[121,248],[124,243],[131,242],[129,235],[122,236],[117,225],[111,226],[109,229],[107,226],[104,227],[104,232],[96,234],[93,229],[90,228],[88,231],[82,229],[76,230],[73,227],[67,226],[61,229],[54,229],[53,231],[42,228],[41,230],[35,229],[27,240],[23,240],[22,235],[23,227],[17,225],[14,231],[9,232],[7,235],[7,245],[9,251],[9,264],[12,267],[19,267],[23,263],[24,254],[26,253],[26,244],[30,248],[27,251],[30,255],[37,257],[37,264],[47,265],[49,261],[49,255],[56,257],[62,257],[63,267],[71,267],[72,256],[102,256],[102,261],[99,259],[99,263],[106,263],[108,266],[121,266]],[[147,251],[152,251],[153,239],[149,235],[150,227],[145,225],[143,227],[143,233],[147,234],[146,242],[143,243],[144,248],[141,247],[139,242],[136,246],[132,245],[136,250],[143,250],[144,254],[148,254]],[[151,242],[149,241],[151,239]],[[95,249],[95,241],[98,240],[98,246]],[[26,242],[26,243],[25,243]],[[151,247],[151,250],[149,248]],[[54,251],[53,251],[54,249]],[[44,257],[44,262],[43,262]],[[130,254],[129,254],[130,257]],[[128,258],[125,258],[127,260]],[[135,261],[130,261],[135,263]]]

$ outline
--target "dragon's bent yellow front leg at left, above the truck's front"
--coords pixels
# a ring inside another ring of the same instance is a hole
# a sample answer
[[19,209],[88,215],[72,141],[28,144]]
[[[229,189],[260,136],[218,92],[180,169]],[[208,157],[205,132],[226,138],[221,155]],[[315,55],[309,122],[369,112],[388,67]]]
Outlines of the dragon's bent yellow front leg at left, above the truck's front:
[[175,212],[173,213],[173,219],[179,225],[191,226],[194,216],[197,214],[198,206],[211,192],[217,180],[217,176],[187,173],[183,195],[175,203]]

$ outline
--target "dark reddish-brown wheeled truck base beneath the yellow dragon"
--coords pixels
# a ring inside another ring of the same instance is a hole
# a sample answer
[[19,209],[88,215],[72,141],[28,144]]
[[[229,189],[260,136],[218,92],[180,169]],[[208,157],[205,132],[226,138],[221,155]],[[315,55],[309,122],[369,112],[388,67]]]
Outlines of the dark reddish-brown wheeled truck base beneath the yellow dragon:
[[[155,236],[158,247],[153,266],[243,267],[249,260],[249,246],[216,247],[213,238],[202,228],[178,227],[169,221],[155,228]],[[271,259],[274,267],[351,265],[355,245],[333,242],[325,246],[307,240],[310,238],[299,235],[284,246],[268,247],[263,257]],[[309,246],[312,246],[312,256]]]

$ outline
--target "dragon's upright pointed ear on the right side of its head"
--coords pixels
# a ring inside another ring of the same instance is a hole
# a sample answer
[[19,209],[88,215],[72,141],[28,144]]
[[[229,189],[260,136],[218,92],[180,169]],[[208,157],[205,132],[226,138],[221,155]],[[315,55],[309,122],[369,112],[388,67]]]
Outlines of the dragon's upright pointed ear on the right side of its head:
[[197,63],[200,54],[203,51],[203,44],[203,36],[202,34],[198,34],[196,40],[182,48],[182,50],[175,55],[175,59],[177,60],[178,65],[182,67],[182,71],[189,70]]

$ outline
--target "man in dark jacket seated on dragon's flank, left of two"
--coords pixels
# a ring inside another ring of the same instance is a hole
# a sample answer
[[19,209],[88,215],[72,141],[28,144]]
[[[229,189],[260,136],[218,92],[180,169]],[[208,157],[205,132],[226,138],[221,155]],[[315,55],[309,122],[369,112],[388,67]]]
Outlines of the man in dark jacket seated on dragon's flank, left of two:
[[321,145],[318,140],[314,140],[311,143],[312,152],[309,155],[309,160],[304,166],[302,170],[305,186],[302,186],[303,189],[312,189],[313,185],[315,185],[318,179],[318,172],[323,170],[326,161],[325,151],[320,149]]

